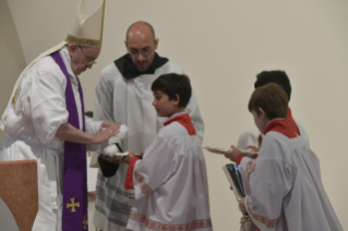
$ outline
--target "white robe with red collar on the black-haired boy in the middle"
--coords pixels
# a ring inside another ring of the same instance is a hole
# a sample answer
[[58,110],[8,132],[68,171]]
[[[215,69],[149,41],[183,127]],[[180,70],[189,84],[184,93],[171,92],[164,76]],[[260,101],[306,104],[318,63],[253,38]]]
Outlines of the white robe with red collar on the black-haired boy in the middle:
[[143,160],[133,158],[127,185],[135,200],[128,229],[212,231],[202,141],[188,113],[166,121]]

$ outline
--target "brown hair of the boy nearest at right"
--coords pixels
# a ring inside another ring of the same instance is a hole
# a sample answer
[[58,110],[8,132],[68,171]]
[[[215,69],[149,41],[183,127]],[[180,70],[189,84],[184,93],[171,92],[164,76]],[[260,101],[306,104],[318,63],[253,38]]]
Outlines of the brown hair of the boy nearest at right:
[[284,89],[278,84],[266,84],[257,87],[250,97],[248,109],[261,114],[259,108],[262,108],[268,118],[286,118],[288,113],[288,97]]

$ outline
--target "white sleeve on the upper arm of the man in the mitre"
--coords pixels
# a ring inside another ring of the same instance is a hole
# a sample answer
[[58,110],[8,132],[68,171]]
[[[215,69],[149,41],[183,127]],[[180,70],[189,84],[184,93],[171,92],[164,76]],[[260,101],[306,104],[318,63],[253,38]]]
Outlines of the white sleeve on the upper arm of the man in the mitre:
[[21,97],[22,110],[32,119],[39,141],[43,144],[49,144],[55,138],[59,126],[68,122],[67,80],[57,70],[49,68],[41,70],[33,66],[31,75],[31,81],[26,82],[27,86],[24,86],[27,89]]

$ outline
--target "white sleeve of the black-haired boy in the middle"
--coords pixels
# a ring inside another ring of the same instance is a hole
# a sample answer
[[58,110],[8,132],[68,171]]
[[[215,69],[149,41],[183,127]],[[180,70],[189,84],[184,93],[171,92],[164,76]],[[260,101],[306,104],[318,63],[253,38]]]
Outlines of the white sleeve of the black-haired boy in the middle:
[[155,191],[167,179],[173,159],[173,150],[160,137],[146,148],[143,160],[133,170],[135,199]]

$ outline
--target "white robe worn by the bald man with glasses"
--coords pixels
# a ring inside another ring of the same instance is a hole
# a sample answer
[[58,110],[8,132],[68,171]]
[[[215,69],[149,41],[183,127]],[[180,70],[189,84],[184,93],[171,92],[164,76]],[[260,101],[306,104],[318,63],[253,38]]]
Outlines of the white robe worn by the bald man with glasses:
[[[132,80],[125,80],[115,63],[103,70],[96,86],[94,119],[128,125],[127,137],[119,141],[123,150],[144,151],[163,126],[165,119],[158,118],[152,106],[154,96],[151,86],[159,75],[168,73],[183,74],[183,70],[167,62],[154,74],[143,74]],[[194,93],[185,111],[192,118],[197,136],[203,139],[204,123]],[[94,224],[103,231],[127,231],[129,198],[133,197],[133,192],[124,189],[127,169],[128,165],[120,165],[111,178],[104,178],[99,170]]]

